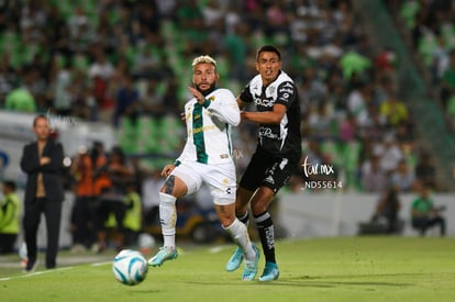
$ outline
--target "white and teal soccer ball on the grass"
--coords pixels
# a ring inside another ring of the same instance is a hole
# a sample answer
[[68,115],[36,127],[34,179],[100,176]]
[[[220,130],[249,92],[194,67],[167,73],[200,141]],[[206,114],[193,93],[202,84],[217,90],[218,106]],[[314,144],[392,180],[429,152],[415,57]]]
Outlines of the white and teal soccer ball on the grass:
[[148,264],[140,251],[123,249],[113,259],[112,271],[120,283],[135,286],[147,277]]

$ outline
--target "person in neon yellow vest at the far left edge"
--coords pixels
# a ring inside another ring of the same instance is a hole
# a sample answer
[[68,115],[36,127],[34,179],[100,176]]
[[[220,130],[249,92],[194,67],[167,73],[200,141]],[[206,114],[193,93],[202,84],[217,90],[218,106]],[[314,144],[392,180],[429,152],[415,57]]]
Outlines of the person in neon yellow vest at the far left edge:
[[3,198],[0,200],[0,255],[14,251],[14,244],[21,225],[21,202],[15,193],[15,183],[2,183]]

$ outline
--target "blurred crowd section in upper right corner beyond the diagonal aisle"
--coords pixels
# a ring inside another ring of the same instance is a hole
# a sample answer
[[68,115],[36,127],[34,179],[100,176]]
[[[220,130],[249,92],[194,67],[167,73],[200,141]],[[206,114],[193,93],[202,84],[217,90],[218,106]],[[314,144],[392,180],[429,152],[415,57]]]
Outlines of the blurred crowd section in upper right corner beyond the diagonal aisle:
[[451,0],[386,1],[389,11],[404,25],[412,51],[430,75],[448,124],[455,132],[455,5]]

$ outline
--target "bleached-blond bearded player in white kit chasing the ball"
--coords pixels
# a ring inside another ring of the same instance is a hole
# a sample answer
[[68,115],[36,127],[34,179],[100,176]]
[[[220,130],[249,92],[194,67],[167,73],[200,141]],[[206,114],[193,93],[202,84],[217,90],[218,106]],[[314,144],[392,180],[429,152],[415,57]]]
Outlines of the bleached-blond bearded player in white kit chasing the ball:
[[159,219],[163,247],[148,260],[153,267],[178,256],[176,248],[176,200],[199,190],[206,182],[211,191],[218,217],[245,257],[242,280],[257,273],[259,250],[251,242],[246,226],[235,216],[236,176],[232,158],[231,127],[240,123],[234,94],[217,88],[220,76],[210,56],[192,61],[193,98],[185,104],[187,142],[175,164],[164,167],[166,177],[159,192]]

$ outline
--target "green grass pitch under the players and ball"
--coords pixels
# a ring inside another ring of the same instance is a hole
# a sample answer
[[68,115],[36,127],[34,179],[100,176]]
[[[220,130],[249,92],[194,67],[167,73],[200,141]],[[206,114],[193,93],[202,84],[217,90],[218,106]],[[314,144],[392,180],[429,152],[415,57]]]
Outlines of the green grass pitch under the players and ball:
[[[184,247],[135,287],[114,279],[113,253],[70,262],[74,255],[63,251],[57,269],[40,266],[34,273],[21,272],[19,256],[4,256],[0,300],[455,301],[455,238],[318,238],[281,241],[276,248],[280,278],[267,283],[241,281],[242,269],[224,270],[233,245]],[[264,257],[259,275],[263,267]]]

